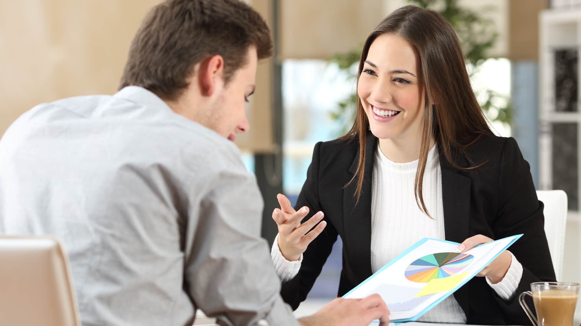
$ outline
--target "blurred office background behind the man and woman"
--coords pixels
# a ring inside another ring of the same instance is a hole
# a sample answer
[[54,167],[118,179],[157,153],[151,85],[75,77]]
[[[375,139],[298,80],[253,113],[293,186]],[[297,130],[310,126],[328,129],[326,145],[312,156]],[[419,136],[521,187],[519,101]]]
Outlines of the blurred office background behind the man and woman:
[[[131,38],[159,2],[0,2],[0,134],[38,103],[115,93]],[[517,139],[537,189],[566,191],[562,280],[581,282],[581,0],[247,2],[268,21],[276,45],[274,58],[259,65],[250,132],[236,141],[265,199],[268,241],[277,233],[275,195],[296,200],[314,144],[352,123],[365,38],[392,10],[413,3],[442,12],[456,29],[493,130]],[[340,268],[339,240],[309,298],[334,298]]]

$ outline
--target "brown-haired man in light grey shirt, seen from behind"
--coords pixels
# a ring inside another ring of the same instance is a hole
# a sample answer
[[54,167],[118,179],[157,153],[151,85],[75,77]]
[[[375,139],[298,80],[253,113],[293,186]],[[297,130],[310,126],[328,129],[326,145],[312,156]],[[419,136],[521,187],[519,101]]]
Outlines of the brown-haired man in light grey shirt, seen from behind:
[[[271,54],[237,0],[169,0],[132,42],[114,96],[41,104],[0,141],[0,232],[56,234],[84,325],[296,325],[279,296],[256,181],[231,142]],[[302,325],[388,322],[378,295]]]

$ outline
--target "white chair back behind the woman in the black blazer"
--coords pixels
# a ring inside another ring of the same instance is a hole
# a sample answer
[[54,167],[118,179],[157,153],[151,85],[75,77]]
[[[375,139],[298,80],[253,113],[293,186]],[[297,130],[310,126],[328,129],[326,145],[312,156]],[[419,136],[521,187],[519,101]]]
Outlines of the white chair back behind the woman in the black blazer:
[[537,197],[544,204],[545,233],[548,249],[553,259],[557,281],[563,273],[565,251],[565,224],[567,222],[567,194],[562,190],[537,190]]

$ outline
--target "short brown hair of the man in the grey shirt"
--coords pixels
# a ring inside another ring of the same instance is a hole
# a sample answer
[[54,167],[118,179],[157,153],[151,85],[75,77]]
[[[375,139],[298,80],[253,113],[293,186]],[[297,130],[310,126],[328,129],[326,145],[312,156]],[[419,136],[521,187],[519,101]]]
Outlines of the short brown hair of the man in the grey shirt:
[[164,100],[187,88],[195,64],[224,58],[224,83],[247,62],[272,55],[270,31],[262,17],[239,0],[166,0],[153,7],[131,42],[119,89],[142,86]]

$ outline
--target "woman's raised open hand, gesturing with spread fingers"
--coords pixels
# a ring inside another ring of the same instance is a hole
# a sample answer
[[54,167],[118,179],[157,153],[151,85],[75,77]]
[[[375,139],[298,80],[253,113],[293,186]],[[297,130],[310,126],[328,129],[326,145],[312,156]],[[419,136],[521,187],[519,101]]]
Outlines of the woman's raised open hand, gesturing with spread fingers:
[[325,229],[327,222],[321,222],[309,232],[323,218],[323,212],[317,212],[307,222],[300,224],[309,213],[309,208],[305,206],[297,212],[290,206],[290,201],[285,195],[278,194],[277,199],[281,209],[274,209],[272,219],[278,225],[278,248],[286,260],[290,262],[299,260],[311,241]]

